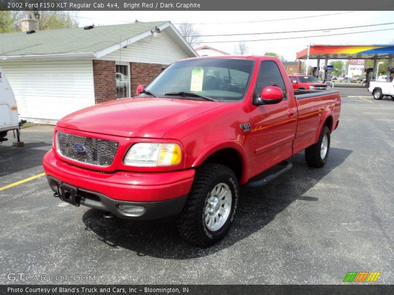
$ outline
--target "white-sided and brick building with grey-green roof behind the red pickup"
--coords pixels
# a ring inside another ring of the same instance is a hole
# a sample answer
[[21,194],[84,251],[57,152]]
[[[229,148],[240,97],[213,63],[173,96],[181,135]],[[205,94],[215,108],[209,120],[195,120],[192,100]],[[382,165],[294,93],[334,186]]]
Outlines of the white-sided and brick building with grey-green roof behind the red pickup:
[[44,31],[22,22],[25,32],[0,34],[0,65],[32,122],[131,97],[170,63],[198,56],[170,22]]

